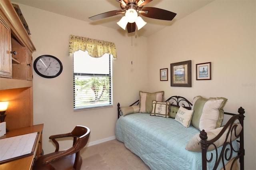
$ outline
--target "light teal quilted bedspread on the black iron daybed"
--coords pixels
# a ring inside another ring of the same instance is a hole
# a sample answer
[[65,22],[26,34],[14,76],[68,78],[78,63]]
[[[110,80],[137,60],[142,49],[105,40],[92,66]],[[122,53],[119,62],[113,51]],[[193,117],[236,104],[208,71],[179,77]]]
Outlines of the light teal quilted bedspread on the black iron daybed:
[[[151,170],[201,170],[201,152],[185,149],[187,142],[198,133],[192,127],[185,128],[172,118],[134,113],[121,116],[116,122],[116,139],[139,156]],[[238,150],[235,141],[233,147]],[[221,147],[218,148],[220,152]],[[210,158],[210,152],[207,153]],[[213,152],[214,158],[215,153]],[[210,170],[213,163],[207,163]],[[222,165],[218,169],[222,168]]]

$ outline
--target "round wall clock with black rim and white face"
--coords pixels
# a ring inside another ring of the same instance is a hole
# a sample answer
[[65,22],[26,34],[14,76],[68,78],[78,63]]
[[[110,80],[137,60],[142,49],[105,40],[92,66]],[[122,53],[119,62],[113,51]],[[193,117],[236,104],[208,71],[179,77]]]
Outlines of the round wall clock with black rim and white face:
[[54,78],[60,75],[63,66],[60,60],[52,55],[41,55],[34,61],[34,70],[45,78]]

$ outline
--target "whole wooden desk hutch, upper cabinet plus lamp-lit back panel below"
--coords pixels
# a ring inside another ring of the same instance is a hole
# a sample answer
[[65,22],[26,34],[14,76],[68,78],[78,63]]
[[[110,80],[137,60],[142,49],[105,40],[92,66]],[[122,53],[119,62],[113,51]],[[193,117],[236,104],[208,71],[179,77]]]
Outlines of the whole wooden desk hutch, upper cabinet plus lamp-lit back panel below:
[[9,101],[6,127],[31,127],[32,53],[36,48],[10,0],[0,0],[0,28],[0,101]]

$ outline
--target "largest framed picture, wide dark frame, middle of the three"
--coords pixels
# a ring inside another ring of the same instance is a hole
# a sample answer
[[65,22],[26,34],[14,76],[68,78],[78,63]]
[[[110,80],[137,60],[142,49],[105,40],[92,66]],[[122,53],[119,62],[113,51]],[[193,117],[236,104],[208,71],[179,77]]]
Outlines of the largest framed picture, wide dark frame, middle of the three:
[[191,60],[171,63],[171,86],[192,87]]

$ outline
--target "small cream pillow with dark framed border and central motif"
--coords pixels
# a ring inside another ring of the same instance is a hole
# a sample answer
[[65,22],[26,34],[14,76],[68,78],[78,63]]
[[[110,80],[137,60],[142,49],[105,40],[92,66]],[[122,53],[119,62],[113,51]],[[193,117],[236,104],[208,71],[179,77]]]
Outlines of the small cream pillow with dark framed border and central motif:
[[170,102],[159,102],[153,101],[152,102],[152,112],[150,113],[151,116],[161,116],[161,117],[169,117],[170,112]]

